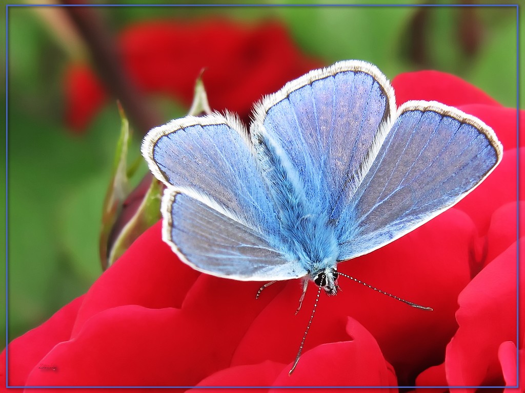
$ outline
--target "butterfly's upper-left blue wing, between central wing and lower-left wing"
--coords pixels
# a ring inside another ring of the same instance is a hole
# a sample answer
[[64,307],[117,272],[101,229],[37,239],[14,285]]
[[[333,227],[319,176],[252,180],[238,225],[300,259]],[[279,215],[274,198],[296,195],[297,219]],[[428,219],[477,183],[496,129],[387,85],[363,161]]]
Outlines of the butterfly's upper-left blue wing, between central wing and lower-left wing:
[[[144,149],[164,183],[211,196],[250,226],[261,227],[271,215],[269,200],[245,133],[233,118],[188,116],[154,128]],[[276,232],[266,224],[265,230]]]

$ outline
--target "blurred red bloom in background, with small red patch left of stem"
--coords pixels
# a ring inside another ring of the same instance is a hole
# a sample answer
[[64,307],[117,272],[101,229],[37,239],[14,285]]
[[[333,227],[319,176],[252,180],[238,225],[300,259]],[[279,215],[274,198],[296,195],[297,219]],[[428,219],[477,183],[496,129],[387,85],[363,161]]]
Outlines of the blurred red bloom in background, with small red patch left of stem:
[[[203,69],[213,110],[248,122],[251,105],[291,79],[322,64],[304,56],[277,23],[243,25],[222,19],[151,21],[118,37],[124,67],[145,93],[164,94],[188,107]],[[80,132],[106,99],[86,64],[66,73],[66,121]],[[82,92],[82,94],[79,94]]]

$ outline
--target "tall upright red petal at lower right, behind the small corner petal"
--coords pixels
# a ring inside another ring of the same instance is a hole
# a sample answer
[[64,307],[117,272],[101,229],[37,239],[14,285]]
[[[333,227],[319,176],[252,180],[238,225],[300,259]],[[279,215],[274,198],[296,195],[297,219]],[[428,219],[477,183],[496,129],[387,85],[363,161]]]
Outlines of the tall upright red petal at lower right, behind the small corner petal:
[[[520,241],[523,246],[525,239]],[[498,347],[516,340],[516,244],[472,279],[458,302],[459,329],[447,346],[445,359],[448,383],[499,385]]]

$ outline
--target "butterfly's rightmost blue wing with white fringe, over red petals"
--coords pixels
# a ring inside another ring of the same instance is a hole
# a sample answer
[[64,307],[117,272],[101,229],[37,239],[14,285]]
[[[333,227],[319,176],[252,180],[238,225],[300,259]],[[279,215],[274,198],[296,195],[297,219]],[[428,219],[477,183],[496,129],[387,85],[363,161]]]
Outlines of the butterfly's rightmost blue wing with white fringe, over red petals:
[[450,208],[501,160],[492,129],[456,108],[413,101],[399,113],[344,201],[339,260],[369,253]]

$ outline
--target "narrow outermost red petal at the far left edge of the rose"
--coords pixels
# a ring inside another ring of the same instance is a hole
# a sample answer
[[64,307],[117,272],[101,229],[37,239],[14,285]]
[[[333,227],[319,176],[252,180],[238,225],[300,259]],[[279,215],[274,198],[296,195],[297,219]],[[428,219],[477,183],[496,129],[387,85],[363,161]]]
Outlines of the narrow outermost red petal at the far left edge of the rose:
[[[9,343],[9,386],[25,386],[27,376],[39,367],[42,358],[56,344],[69,340],[71,329],[83,301],[79,297],[58,310],[46,322]],[[4,374],[6,351],[0,356],[0,370]],[[4,375],[5,376],[5,375]]]

